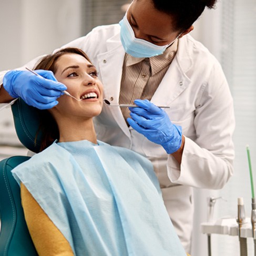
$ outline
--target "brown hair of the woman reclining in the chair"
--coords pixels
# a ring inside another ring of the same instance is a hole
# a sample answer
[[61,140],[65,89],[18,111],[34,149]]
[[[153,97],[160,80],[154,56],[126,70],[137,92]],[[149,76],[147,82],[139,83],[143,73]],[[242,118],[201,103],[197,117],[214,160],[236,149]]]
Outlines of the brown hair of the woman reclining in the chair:
[[[78,48],[63,48],[58,50],[53,54],[49,54],[44,56],[39,62],[35,65],[34,70],[44,69],[52,71],[54,74],[56,73],[57,67],[56,62],[60,56],[65,54],[78,54],[85,57],[90,63],[89,57],[86,55],[83,50]],[[42,132],[42,140],[40,141],[40,151],[43,151],[47,147],[53,144],[53,142],[59,139],[59,129],[57,122],[54,117],[48,110],[39,110],[38,115],[40,117],[40,125],[37,131],[37,135],[35,141],[37,140],[38,133]]]

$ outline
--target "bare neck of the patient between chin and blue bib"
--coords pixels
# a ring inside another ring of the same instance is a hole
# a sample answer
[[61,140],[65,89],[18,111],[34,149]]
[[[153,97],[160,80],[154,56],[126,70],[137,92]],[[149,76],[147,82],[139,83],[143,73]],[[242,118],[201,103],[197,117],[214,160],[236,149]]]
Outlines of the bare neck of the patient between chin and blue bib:
[[61,119],[57,121],[57,124],[59,127],[59,142],[88,140],[97,144],[92,118],[88,120]]

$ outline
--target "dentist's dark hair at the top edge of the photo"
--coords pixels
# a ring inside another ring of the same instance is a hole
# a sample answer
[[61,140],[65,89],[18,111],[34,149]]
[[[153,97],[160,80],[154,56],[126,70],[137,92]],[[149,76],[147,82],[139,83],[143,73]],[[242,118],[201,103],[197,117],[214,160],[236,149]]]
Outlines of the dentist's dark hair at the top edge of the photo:
[[174,18],[173,26],[183,32],[202,14],[204,8],[212,9],[217,0],[150,0],[155,8]]

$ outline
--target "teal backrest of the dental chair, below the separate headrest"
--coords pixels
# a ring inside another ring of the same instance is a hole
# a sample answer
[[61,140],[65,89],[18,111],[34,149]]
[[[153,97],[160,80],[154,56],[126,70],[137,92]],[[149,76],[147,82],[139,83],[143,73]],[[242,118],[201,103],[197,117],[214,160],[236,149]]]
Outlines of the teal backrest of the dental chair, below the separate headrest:
[[15,156],[0,162],[0,255],[37,255],[28,233],[21,204],[21,193],[11,170],[29,157]]

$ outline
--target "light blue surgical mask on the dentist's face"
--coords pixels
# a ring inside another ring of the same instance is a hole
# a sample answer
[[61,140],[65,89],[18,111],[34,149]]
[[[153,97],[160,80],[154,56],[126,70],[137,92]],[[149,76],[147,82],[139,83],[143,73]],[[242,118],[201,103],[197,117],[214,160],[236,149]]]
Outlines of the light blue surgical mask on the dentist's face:
[[119,22],[121,26],[120,29],[120,39],[122,42],[122,46],[125,48],[125,52],[137,57],[137,58],[149,58],[153,56],[157,56],[165,52],[165,49],[172,45],[173,42],[168,45],[155,45],[144,39],[139,39],[135,37],[134,30],[132,29],[130,23],[128,22],[127,16]]

